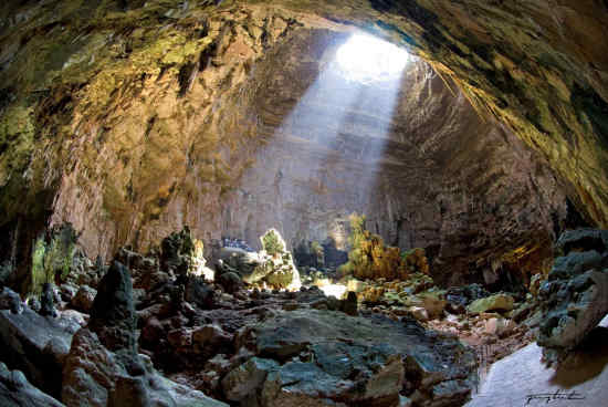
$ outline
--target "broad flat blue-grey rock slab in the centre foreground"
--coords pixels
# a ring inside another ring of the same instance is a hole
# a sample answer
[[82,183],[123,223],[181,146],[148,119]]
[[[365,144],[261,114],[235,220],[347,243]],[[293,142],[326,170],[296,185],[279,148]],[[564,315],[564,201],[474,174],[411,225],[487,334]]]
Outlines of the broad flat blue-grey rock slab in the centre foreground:
[[275,314],[243,335],[262,357],[300,355],[302,361],[308,354],[314,361],[289,362],[269,373],[260,394],[263,406],[392,406],[401,389],[417,389],[423,405],[458,405],[469,396],[472,354],[412,321],[296,310]]

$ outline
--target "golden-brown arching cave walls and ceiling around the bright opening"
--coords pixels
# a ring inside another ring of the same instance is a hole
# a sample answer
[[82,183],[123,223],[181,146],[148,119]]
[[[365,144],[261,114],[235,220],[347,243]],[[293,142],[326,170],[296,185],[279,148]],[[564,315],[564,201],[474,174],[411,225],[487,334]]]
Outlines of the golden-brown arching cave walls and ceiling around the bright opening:
[[[51,202],[52,222],[72,221],[87,253],[105,258],[184,225],[206,241],[255,243],[276,227],[291,246],[329,236],[344,249],[357,210],[388,243],[432,248],[434,269],[458,280],[546,258],[566,216],[562,181],[606,221],[605,61],[583,41],[605,12],[542,1],[146,4],[9,1],[0,11],[0,222],[23,252]],[[386,88],[324,71],[346,39],[336,21],[378,22],[454,95],[411,64],[386,118]],[[324,79],[332,85],[319,88]],[[343,91],[361,97],[344,106]],[[481,119],[468,100],[491,114]],[[311,119],[290,119],[296,107]]]

